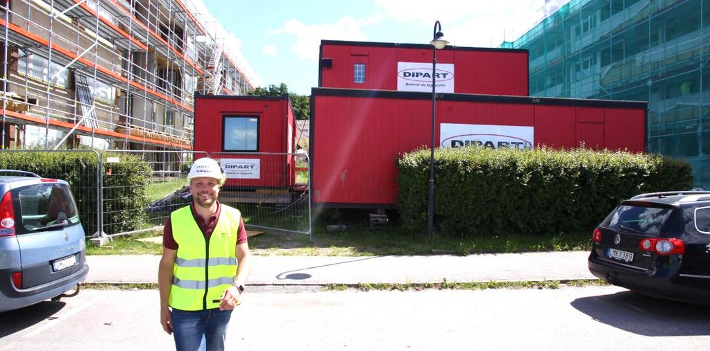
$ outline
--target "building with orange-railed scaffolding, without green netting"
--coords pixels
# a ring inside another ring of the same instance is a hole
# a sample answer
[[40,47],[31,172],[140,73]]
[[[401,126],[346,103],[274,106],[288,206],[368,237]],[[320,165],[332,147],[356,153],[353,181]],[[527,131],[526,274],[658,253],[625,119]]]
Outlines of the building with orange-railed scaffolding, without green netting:
[[3,148],[192,149],[195,92],[253,88],[190,0],[4,6]]

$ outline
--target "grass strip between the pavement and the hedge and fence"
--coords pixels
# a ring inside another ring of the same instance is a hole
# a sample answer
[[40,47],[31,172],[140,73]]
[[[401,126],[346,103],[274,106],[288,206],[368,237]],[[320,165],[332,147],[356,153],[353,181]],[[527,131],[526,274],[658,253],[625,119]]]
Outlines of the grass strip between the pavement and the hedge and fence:
[[[337,213],[337,212],[336,212]],[[306,256],[372,256],[372,255],[471,255],[476,253],[520,253],[537,251],[587,251],[591,248],[589,233],[562,233],[543,236],[505,234],[495,236],[451,237],[436,235],[429,240],[421,233],[401,229],[396,217],[389,226],[371,229],[366,225],[366,212],[353,218],[327,217],[313,224],[313,240],[307,234],[265,232],[249,238],[256,255]],[[157,223],[157,222],[156,222]],[[329,233],[327,224],[343,224],[345,231]],[[147,231],[133,236],[118,236],[108,246],[89,246],[89,255],[160,255],[162,243],[146,243],[138,238],[162,236],[162,231]]]

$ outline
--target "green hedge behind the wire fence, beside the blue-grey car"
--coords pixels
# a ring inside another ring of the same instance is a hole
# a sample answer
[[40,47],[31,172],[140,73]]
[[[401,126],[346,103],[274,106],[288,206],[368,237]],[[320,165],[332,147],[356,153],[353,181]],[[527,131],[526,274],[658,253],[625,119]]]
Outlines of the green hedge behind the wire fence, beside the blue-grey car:
[[[113,234],[140,229],[146,218],[146,187],[151,168],[138,156],[122,153],[105,153],[105,156],[120,156],[121,161],[111,163],[112,175],[104,176],[104,223],[111,224],[104,226],[104,231]],[[98,156],[93,151],[0,151],[0,169],[30,171],[45,178],[66,180],[72,187],[87,235],[98,228],[97,163]]]

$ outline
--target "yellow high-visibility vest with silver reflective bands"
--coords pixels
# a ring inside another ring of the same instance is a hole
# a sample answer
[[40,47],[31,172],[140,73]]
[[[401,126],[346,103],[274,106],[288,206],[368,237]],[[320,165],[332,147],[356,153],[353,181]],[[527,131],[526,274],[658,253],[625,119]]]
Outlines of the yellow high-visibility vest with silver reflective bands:
[[217,300],[234,283],[236,237],[241,214],[233,207],[219,206],[222,209],[217,226],[209,239],[197,226],[190,206],[170,214],[178,253],[173,264],[173,286],[168,305],[175,309],[200,311],[219,308]]

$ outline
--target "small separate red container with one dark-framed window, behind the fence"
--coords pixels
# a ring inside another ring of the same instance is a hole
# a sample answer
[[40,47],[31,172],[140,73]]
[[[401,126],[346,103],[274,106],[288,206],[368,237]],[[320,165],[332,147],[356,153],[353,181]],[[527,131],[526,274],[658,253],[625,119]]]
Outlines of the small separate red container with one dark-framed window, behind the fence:
[[[234,137],[231,133],[235,131],[244,134]],[[196,95],[194,133],[195,151],[207,151],[218,159],[226,171],[227,186],[283,188],[294,185],[296,162],[293,156],[263,154],[295,151],[296,126],[288,95]],[[235,152],[239,154],[229,154]],[[249,169],[239,171],[245,167]]]

